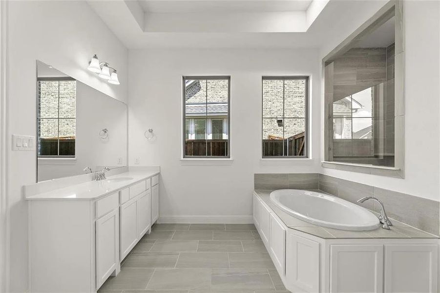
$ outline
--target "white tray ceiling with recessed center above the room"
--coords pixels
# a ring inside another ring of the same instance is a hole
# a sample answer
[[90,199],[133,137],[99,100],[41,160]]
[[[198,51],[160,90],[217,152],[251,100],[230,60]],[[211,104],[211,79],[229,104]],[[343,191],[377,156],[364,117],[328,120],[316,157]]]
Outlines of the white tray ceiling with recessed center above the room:
[[[164,0],[154,1],[156,6],[151,5],[151,9],[155,12],[146,13],[143,6],[150,5],[150,2],[141,5],[138,1],[130,0],[87,0],[128,49],[324,48],[324,50],[333,49],[387,1],[330,0],[327,2],[326,0],[313,0],[308,4],[307,11],[274,12],[265,10],[262,12],[260,10],[244,13],[237,12],[237,10],[269,9],[269,3],[274,4],[272,8],[279,4],[284,5],[284,9],[288,5],[297,5],[295,6],[297,9],[303,5],[304,9],[307,3],[226,0],[221,1],[223,3],[220,4],[220,1],[213,0]],[[226,12],[219,12],[217,9],[216,12],[212,12],[210,9],[213,9],[211,6],[213,3],[222,5],[222,9],[230,9],[227,8],[230,7],[228,5],[238,5],[239,7]],[[186,8],[182,8],[182,4],[185,4]],[[210,10],[211,12],[205,14],[194,13],[193,10],[188,12],[189,7],[194,7],[194,5],[198,6],[197,9],[203,7],[204,11]],[[289,9],[293,9],[293,6]],[[186,10],[181,13],[172,12],[179,9]],[[158,11],[163,11],[163,13]],[[243,13],[243,19],[240,19],[241,13]],[[292,29],[292,23],[295,23],[289,19],[287,14],[298,16],[295,19],[297,27]],[[284,19],[278,16],[283,16]],[[284,22],[280,22],[280,20]],[[218,25],[221,21],[226,24],[226,29],[222,30]],[[276,23],[277,21],[278,23]],[[300,25],[301,22],[302,25]],[[274,29],[268,30],[267,27],[270,26]],[[194,28],[201,29],[195,30]],[[234,28],[236,29],[234,30]]]

